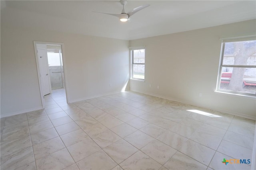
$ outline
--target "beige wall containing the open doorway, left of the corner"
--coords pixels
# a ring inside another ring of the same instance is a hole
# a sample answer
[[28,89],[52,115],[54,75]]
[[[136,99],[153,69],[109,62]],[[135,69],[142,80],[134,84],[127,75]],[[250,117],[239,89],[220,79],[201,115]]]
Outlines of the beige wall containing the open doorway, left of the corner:
[[1,117],[42,108],[33,41],[64,43],[70,102],[121,91],[128,81],[129,41],[1,23]]

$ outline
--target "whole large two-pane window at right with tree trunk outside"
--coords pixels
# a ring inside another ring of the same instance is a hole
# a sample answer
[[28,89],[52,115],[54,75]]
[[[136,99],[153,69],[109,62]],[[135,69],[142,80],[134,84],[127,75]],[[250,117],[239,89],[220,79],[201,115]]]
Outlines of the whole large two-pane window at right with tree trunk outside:
[[255,39],[223,40],[217,91],[256,96]]

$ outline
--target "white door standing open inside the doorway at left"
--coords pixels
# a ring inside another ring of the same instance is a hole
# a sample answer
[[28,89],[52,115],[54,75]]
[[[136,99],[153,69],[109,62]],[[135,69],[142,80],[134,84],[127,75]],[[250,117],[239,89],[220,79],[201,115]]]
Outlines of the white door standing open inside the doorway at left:
[[48,59],[46,49],[37,49],[38,65],[43,96],[50,94],[50,81],[48,73]]

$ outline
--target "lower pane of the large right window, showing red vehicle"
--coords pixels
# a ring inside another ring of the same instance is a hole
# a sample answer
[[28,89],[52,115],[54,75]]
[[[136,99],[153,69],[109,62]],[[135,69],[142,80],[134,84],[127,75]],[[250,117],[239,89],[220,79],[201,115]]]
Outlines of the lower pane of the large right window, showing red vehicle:
[[220,89],[256,94],[256,68],[222,67]]

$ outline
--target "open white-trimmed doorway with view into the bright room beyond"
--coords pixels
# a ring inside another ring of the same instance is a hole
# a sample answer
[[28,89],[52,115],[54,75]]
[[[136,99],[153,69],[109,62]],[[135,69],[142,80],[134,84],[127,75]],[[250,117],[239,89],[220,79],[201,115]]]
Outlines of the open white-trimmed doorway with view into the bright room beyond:
[[63,102],[68,103],[65,81],[63,44],[34,41],[36,65],[42,106],[47,105],[46,98],[62,94]]

